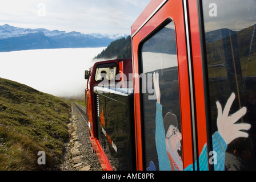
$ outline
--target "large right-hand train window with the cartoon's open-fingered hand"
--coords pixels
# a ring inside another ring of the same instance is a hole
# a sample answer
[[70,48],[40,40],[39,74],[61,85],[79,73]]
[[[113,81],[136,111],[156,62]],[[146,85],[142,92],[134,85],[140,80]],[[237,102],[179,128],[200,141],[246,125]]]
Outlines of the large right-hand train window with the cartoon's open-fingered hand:
[[215,170],[255,170],[256,1],[203,0]]

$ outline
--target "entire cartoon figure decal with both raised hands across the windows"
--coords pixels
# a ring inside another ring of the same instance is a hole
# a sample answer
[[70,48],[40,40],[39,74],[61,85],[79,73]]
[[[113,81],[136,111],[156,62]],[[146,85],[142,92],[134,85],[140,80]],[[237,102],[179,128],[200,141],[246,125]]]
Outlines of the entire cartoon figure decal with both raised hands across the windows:
[[[155,144],[157,147],[157,155],[159,162],[159,170],[163,171],[178,171],[183,170],[181,140],[182,135],[177,129],[177,117],[174,114],[167,113],[163,118],[162,105],[160,104],[161,92],[159,89],[159,77],[158,73],[154,73],[153,82],[155,86],[155,93],[157,94],[157,109],[155,115]],[[251,125],[248,123],[235,123],[243,115],[246,114],[246,107],[242,107],[234,114],[229,115],[230,107],[235,100],[235,94],[231,93],[231,96],[227,100],[227,103],[222,110],[222,106],[219,101],[216,101],[218,110],[217,127],[212,136],[213,151],[218,156],[218,163],[214,164],[215,170],[224,170],[225,167],[225,151],[227,144],[232,142],[236,138],[245,137],[249,135],[245,131],[249,130]],[[199,163],[205,164],[200,166],[200,170],[207,170],[207,148],[204,145],[201,154],[199,155]],[[194,164],[197,169],[197,162]],[[154,163],[151,161],[147,170],[155,170]],[[193,164],[187,166],[184,170],[193,170]]]

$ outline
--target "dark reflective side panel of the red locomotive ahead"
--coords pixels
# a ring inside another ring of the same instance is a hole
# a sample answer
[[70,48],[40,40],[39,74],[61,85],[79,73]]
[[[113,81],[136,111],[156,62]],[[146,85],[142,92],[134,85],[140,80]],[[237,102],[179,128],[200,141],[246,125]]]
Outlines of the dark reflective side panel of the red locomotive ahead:
[[95,91],[94,96],[97,136],[107,159],[114,170],[133,170],[133,94],[122,96]]

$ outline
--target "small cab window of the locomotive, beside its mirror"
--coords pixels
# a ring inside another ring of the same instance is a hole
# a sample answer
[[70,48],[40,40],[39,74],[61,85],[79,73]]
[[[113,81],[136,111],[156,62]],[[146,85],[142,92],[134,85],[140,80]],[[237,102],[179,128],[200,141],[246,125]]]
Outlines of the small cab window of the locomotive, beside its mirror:
[[115,63],[99,64],[96,67],[95,81],[115,80],[117,74],[117,65]]

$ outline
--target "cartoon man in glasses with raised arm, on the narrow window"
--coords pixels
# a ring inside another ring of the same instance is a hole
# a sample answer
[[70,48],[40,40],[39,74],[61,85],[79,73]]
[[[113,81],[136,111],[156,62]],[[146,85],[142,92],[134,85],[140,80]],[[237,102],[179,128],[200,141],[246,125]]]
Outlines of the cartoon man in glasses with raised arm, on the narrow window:
[[[153,81],[155,85],[155,92],[157,94],[157,114],[155,116],[157,124],[155,126],[155,143],[158,152],[159,170],[183,170],[181,150],[182,137],[178,130],[177,117],[172,113],[167,113],[164,118],[162,117],[158,73],[154,73]],[[153,169],[154,168],[155,167],[153,167]]]

